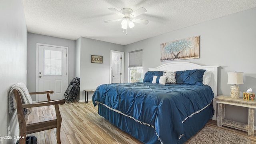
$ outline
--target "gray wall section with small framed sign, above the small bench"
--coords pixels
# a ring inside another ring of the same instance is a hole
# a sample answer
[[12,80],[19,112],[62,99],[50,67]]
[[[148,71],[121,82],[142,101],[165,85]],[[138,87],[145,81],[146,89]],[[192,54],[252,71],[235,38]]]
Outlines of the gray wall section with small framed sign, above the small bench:
[[[80,73],[80,96],[78,96],[78,100],[82,101],[84,100],[83,90],[96,89],[99,85],[110,82],[110,50],[124,52],[124,46],[83,37],[77,40],[77,45],[79,41],[80,47],[76,47],[76,54],[78,54],[76,59],[80,61],[80,72],[76,72],[76,74]],[[91,63],[91,55],[103,56],[103,63]],[[89,99],[92,98],[92,94],[92,92],[89,94]]]

